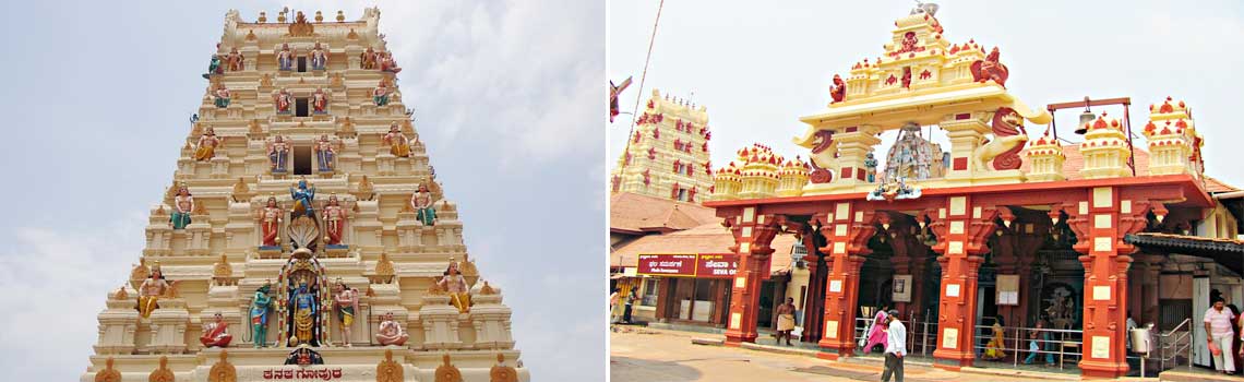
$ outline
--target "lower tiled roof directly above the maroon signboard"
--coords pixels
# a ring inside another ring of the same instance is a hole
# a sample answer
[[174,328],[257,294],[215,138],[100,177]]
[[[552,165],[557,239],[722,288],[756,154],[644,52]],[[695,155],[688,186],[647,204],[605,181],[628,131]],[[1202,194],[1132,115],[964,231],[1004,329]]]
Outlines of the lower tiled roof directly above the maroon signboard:
[[[652,234],[613,250],[610,254],[610,266],[636,266],[641,254],[720,254],[734,245],[734,236],[722,226],[722,220],[703,224],[688,230],[668,234]],[[782,234],[771,244],[770,271],[790,269],[790,251],[795,246],[795,235]]]

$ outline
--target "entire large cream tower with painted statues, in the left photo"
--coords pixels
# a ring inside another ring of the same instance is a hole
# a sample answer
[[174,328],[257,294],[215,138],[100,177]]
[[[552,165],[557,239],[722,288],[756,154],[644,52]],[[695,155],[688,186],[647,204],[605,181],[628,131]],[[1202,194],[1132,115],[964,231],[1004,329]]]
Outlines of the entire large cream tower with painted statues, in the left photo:
[[82,381],[530,380],[378,21],[226,14]]

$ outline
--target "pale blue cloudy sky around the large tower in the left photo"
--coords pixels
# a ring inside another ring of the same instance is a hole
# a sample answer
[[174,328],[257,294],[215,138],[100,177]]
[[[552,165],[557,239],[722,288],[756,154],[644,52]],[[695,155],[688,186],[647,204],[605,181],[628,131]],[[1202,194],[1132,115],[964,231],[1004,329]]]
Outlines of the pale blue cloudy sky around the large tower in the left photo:
[[[238,6],[245,5],[245,6]],[[372,1],[238,4],[361,16]],[[480,273],[505,291],[537,381],[605,375],[601,90],[605,4],[381,1],[448,198]],[[26,1],[0,15],[0,368],[76,380],[96,314],[143,246],[172,182],[208,57],[216,1]],[[575,365],[575,367],[565,367]],[[37,378],[36,378],[37,377]]]

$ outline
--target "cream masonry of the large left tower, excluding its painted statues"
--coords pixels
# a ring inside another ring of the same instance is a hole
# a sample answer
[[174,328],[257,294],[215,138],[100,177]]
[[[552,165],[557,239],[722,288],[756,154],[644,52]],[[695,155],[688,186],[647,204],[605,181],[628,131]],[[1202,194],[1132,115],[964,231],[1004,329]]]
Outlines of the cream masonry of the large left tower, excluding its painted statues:
[[[438,370],[453,370],[465,381],[489,381],[498,370],[516,380],[530,378],[510,336],[511,311],[501,304],[500,287],[483,281],[468,255],[457,205],[444,198],[407,116],[397,71],[363,68],[364,51],[387,52],[378,21],[378,9],[364,10],[355,21],[346,21],[340,11],[336,17],[320,11],[313,16],[281,12],[271,19],[260,14],[254,21],[241,20],[236,11],[225,16],[215,52],[224,68],[208,76],[198,121],[187,136],[169,192],[151,209],[139,263],[124,285],[107,292],[107,309],[98,315],[96,355],[82,381],[100,376],[142,380],[165,367],[178,381],[255,381],[296,370],[281,366],[291,351],[279,338],[286,307],[274,305],[265,338],[269,347],[254,348],[249,306],[255,291],[269,282],[274,300],[280,300],[285,268],[296,264],[290,260],[295,240],[261,245],[255,214],[275,197],[286,212],[282,220],[294,220],[290,187],[299,179],[316,188],[316,214],[331,194],[350,214],[340,245],[325,241],[323,225],[304,244],[320,265],[311,271],[362,294],[352,347],[341,346],[338,320],[330,314],[328,301],[321,300],[325,333],[316,351],[326,368],[340,371],[343,380],[378,378],[377,367],[386,365],[396,365],[386,372],[393,381],[434,381]],[[281,70],[276,58],[284,44],[295,52],[289,70]],[[315,68],[309,56],[316,44],[327,52],[325,68]],[[229,67],[226,56],[234,49],[244,60]],[[374,98],[381,83],[388,88],[387,102]],[[219,102],[221,87],[229,91],[228,102]],[[316,112],[315,95],[321,88],[328,101],[323,112]],[[274,102],[282,90],[291,96],[287,112]],[[408,156],[394,152],[392,139],[384,139],[394,123],[409,139]],[[219,144],[210,158],[195,158],[209,129]],[[269,158],[277,136],[289,144],[284,170],[274,169]],[[336,152],[331,163],[316,154],[315,144],[323,136]],[[411,208],[419,184],[435,200],[435,224],[423,224]],[[182,185],[195,205],[192,223],[174,229],[169,219]],[[282,225],[280,236],[290,238],[294,231]],[[469,314],[459,314],[435,286],[454,261],[471,287]],[[153,266],[175,284],[149,317],[141,317],[138,286]],[[386,312],[409,335],[403,346],[376,341]],[[198,341],[203,325],[216,314],[233,335],[225,348]],[[221,380],[216,372],[223,370],[233,378]]]

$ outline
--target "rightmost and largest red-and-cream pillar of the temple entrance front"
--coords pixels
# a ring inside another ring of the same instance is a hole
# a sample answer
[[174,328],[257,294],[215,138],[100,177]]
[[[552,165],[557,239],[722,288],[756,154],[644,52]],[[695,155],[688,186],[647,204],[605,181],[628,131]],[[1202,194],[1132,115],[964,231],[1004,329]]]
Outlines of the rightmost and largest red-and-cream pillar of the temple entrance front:
[[1085,268],[1084,358],[1085,377],[1127,375],[1127,269],[1136,248],[1123,235],[1147,224],[1148,200],[1121,198],[1121,189],[1096,187],[1074,204],[1064,204],[1067,224],[1076,233],[1076,251]]

